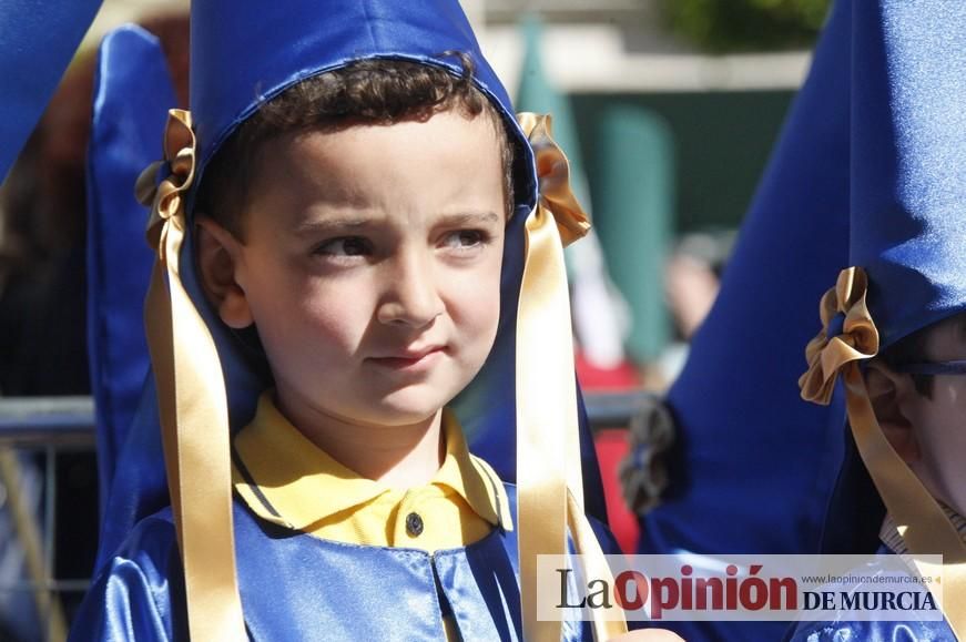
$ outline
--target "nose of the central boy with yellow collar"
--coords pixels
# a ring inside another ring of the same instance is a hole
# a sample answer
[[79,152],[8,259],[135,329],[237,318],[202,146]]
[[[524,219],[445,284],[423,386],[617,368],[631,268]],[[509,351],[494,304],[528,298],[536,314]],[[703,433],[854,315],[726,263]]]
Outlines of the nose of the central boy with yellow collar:
[[445,310],[433,268],[420,257],[399,261],[388,275],[386,296],[376,313],[379,323],[420,328]]

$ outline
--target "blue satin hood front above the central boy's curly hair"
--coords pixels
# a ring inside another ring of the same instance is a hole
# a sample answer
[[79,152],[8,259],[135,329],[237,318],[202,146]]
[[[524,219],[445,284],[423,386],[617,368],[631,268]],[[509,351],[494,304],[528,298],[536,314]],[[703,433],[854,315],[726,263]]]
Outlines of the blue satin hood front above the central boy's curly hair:
[[[202,174],[222,142],[264,101],[311,75],[365,59],[413,60],[458,74],[458,60],[446,53],[469,54],[477,84],[522,139],[509,95],[456,1],[292,0],[285,11],[266,11],[258,2],[207,0],[193,3],[191,18],[191,111]],[[529,150],[522,155],[519,166],[532,167]],[[517,188],[517,202],[532,207],[532,170]]]

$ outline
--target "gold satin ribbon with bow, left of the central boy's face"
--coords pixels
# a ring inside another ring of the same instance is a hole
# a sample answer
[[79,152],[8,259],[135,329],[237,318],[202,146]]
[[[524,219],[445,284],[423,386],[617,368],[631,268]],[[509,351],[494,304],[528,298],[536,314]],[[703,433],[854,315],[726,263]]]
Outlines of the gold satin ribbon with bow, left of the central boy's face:
[[[138,180],[151,205],[148,242],[157,252],[144,323],[154,369],[171,506],[184,567],[189,631],[195,641],[247,640],[235,572],[228,412],[214,340],[181,281],[185,196],[196,152],[191,114],[169,112],[164,159]],[[166,275],[166,285],[165,285]]]

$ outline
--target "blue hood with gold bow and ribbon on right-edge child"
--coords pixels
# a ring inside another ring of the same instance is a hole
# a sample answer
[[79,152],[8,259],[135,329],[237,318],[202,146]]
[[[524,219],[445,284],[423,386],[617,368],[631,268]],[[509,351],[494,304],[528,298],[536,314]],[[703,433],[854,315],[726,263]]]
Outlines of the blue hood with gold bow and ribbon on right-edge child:
[[[863,367],[903,337],[966,310],[964,99],[966,6],[854,2],[850,259],[822,298],[823,328],[806,348],[800,381],[802,396],[818,404],[840,377],[845,381],[851,436],[825,549],[874,546],[884,505],[912,554],[944,556],[944,614],[960,632],[966,544],[886,438]],[[922,426],[911,418],[909,429]]]

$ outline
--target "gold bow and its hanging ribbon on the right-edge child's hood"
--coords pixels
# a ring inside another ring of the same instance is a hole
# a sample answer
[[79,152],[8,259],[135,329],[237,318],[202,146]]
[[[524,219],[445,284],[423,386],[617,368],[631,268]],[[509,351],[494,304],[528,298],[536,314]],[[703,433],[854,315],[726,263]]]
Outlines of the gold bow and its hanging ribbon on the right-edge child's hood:
[[[924,574],[935,578],[942,573],[942,584],[932,583],[929,590],[944,605],[953,632],[962,639],[960,633],[966,632],[966,544],[885,438],[858,368],[860,360],[878,353],[878,330],[865,304],[867,288],[865,272],[850,267],[842,271],[836,286],[822,297],[823,328],[805,348],[809,370],[799,379],[799,386],[804,399],[827,405],[836,378],[843,377],[848,424],[858,454],[911,556],[943,556],[942,567],[922,559],[915,562]],[[836,317],[842,319],[840,315],[844,315],[842,332],[835,333],[832,322]]]

